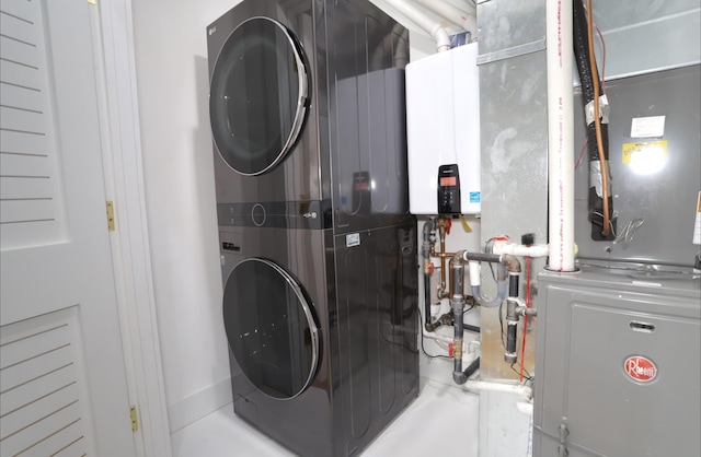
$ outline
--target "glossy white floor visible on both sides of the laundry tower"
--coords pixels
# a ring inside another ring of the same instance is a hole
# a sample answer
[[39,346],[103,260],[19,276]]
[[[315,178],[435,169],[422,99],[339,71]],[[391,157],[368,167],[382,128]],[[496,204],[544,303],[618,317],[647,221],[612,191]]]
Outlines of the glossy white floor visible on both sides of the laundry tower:
[[[421,395],[363,457],[476,457],[479,396],[422,378]],[[456,446],[456,436],[461,445]],[[171,436],[173,457],[295,456],[233,414],[231,405]]]

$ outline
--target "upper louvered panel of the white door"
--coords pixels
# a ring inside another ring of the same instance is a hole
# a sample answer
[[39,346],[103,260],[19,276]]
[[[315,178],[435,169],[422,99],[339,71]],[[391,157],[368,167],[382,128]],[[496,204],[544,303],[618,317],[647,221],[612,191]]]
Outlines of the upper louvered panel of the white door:
[[61,239],[65,226],[41,2],[3,1],[0,21],[0,247]]

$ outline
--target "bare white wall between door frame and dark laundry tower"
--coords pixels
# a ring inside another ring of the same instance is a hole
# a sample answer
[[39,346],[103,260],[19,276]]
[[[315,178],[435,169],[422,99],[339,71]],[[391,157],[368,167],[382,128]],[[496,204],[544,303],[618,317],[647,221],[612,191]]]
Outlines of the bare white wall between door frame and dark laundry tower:
[[206,26],[237,3],[133,2],[147,213],[171,431],[231,399],[220,307]]

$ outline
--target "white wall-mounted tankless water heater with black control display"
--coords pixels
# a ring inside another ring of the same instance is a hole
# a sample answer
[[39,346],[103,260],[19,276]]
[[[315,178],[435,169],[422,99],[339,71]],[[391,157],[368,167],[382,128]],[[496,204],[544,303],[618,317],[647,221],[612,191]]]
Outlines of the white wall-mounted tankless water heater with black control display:
[[413,214],[480,212],[476,43],[406,66],[409,204]]

